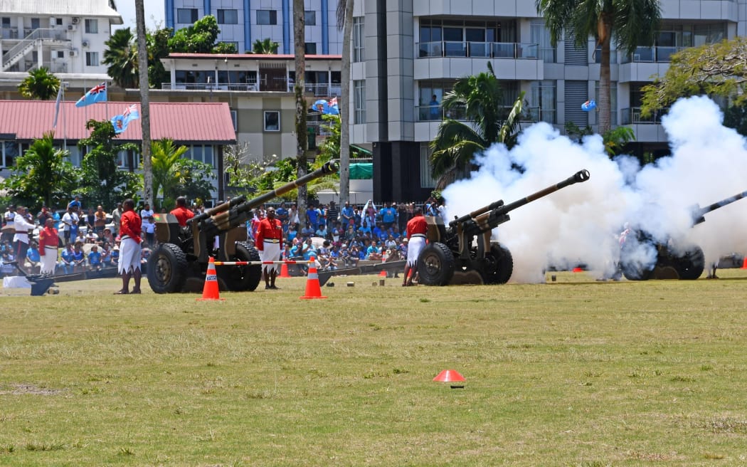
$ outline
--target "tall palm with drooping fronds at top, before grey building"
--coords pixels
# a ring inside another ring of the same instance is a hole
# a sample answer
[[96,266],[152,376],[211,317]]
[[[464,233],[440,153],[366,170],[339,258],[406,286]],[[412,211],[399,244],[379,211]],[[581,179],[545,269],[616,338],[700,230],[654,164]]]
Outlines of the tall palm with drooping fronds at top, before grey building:
[[551,44],[557,45],[564,29],[573,31],[577,46],[586,46],[589,36],[601,49],[599,69],[598,132],[610,130],[610,43],[625,55],[637,46],[650,46],[661,10],[658,0],[535,0],[539,13],[545,16]]

